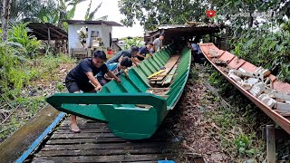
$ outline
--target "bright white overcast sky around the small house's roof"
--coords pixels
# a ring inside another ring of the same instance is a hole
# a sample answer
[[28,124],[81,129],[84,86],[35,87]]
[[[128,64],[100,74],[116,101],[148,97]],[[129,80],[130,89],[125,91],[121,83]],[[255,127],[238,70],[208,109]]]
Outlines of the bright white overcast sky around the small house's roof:
[[[118,0],[92,0],[91,10],[95,9],[101,2],[102,6],[95,14],[95,18],[108,15],[108,21],[120,23],[121,18],[125,16],[120,14]],[[83,20],[89,4],[90,0],[87,0],[77,5],[73,19]],[[134,24],[132,27],[113,27],[111,33],[113,38],[121,38],[127,36],[143,36],[143,31],[143,27],[140,24]]]

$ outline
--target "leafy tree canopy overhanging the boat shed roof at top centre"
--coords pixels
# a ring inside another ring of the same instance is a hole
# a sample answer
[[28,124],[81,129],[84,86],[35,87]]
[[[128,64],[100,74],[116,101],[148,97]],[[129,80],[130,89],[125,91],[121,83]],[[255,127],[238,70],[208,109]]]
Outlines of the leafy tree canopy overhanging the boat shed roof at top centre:
[[126,26],[140,21],[146,30],[153,30],[159,24],[185,24],[189,21],[203,21],[206,18],[208,0],[120,0],[121,14],[126,18],[121,23]]

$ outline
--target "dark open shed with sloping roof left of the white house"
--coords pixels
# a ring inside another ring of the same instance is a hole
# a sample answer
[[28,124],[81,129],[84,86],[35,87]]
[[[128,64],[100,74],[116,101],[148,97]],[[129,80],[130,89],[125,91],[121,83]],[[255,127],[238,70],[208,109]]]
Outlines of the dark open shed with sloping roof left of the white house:
[[28,34],[33,34],[38,40],[67,40],[67,33],[60,27],[48,23],[27,24]]

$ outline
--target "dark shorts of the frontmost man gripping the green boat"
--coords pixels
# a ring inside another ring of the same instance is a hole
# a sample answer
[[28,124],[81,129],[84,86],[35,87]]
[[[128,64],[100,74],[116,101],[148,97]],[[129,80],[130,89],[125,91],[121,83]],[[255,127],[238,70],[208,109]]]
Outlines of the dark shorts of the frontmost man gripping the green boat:
[[70,93],[75,91],[90,92],[94,90],[94,86],[90,82],[75,82],[73,77],[67,75],[65,78],[65,86]]

